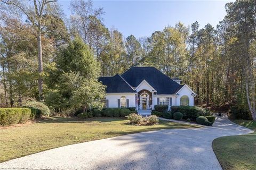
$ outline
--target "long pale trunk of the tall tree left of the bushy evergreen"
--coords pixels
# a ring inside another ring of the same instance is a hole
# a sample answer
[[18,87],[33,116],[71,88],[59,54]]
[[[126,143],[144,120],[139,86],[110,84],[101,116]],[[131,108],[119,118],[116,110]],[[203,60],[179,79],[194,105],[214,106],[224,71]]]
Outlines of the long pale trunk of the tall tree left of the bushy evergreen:
[[37,33],[37,48],[38,48],[38,91],[39,91],[39,100],[43,99],[43,53],[42,53],[42,39],[41,39],[41,31]]

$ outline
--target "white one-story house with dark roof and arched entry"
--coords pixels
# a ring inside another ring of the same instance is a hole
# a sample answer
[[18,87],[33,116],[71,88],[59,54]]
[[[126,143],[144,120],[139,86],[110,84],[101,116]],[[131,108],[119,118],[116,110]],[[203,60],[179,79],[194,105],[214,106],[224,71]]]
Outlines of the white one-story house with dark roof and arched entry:
[[100,77],[106,85],[106,107],[135,107],[150,114],[155,105],[194,106],[195,92],[181,79],[171,79],[155,67],[131,67],[113,77]]

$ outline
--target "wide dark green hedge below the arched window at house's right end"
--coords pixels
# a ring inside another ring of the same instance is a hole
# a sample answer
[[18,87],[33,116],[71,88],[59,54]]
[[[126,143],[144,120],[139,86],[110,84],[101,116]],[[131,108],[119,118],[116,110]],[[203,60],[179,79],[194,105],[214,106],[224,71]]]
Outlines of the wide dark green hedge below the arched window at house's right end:
[[210,115],[210,112],[203,107],[197,106],[171,106],[172,113],[180,112],[184,117],[190,118],[191,120],[196,120],[198,116]]

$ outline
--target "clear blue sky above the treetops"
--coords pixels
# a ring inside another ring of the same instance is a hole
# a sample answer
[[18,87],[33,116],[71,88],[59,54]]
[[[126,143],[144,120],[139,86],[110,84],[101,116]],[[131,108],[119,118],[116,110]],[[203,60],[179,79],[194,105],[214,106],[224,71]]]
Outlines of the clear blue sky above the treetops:
[[[225,4],[230,1],[94,1],[103,7],[104,24],[115,27],[125,37],[150,36],[165,26],[181,21],[185,25],[198,21],[200,28],[210,23],[215,27],[226,15]],[[70,1],[59,4],[69,18]]]

